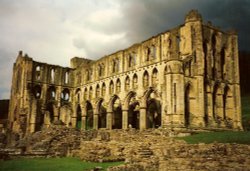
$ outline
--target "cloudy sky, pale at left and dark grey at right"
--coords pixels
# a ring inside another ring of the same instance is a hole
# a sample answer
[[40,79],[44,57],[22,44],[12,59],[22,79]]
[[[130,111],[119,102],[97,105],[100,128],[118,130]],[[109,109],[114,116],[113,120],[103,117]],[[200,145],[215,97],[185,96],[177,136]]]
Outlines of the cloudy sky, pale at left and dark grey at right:
[[0,0],[0,99],[9,98],[19,50],[69,66],[74,56],[97,59],[176,27],[191,9],[238,30],[240,49],[250,50],[250,0]]

